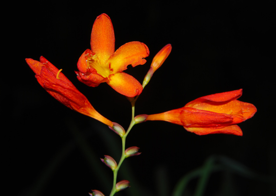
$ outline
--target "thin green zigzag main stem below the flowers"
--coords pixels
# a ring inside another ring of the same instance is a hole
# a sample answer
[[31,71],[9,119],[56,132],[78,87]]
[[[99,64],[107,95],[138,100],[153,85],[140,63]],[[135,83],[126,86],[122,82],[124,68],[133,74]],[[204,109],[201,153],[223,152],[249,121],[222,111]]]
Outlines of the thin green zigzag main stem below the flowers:
[[113,186],[112,186],[112,190],[111,190],[111,193],[110,193],[110,196],[113,196],[117,190],[116,190],[116,182],[117,182],[117,174],[118,174],[118,171],[123,163],[123,161],[125,160],[126,158],[126,155],[125,155],[125,150],[126,150],[126,138],[130,132],[130,130],[132,129],[132,127],[135,125],[135,121],[134,121],[134,112],[135,112],[135,102],[137,100],[138,96],[132,100],[130,103],[131,103],[131,109],[132,109],[132,116],[131,116],[131,122],[129,124],[129,128],[126,132],[126,134],[122,137],[122,156],[121,156],[121,159],[117,165],[117,168],[113,170]]

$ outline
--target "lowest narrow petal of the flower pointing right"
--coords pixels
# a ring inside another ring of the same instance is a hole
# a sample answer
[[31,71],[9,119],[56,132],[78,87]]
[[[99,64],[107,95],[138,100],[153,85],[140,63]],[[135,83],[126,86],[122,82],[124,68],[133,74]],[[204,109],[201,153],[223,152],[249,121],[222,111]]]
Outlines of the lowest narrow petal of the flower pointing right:
[[242,136],[242,131],[238,125],[231,125],[223,128],[206,128],[206,127],[184,127],[189,132],[197,135],[207,134],[232,134],[236,136]]

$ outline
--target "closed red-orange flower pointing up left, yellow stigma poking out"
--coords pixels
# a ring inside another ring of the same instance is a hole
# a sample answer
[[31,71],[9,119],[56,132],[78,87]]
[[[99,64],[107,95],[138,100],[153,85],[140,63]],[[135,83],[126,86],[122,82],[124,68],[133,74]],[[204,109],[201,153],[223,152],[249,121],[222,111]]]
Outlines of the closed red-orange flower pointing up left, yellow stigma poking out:
[[38,83],[60,103],[113,127],[113,123],[100,115],[88,99],[61,73],[61,70],[58,70],[47,59],[41,56],[40,62],[33,59],[26,59],[26,62],[35,72]]

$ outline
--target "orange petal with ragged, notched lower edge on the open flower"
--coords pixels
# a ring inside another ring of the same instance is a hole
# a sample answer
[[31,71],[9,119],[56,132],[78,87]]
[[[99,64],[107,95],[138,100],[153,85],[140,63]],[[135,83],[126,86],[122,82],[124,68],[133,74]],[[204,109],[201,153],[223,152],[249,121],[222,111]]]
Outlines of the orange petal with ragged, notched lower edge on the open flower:
[[126,43],[110,57],[110,70],[113,74],[116,74],[126,70],[130,64],[132,67],[143,65],[147,61],[144,58],[148,55],[149,50],[146,44],[139,41]]

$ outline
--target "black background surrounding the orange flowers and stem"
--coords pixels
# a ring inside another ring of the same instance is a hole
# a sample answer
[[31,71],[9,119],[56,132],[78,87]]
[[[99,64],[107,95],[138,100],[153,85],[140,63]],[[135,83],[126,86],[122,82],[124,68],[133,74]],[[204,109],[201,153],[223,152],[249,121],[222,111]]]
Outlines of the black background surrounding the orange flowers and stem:
[[[78,58],[90,48],[92,24],[101,13],[112,20],[116,49],[129,41],[147,44],[147,63],[126,71],[140,82],[154,55],[172,44],[171,54],[137,100],[136,115],[165,112],[195,98],[240,88],[239,100],[258,109],[253,118],[240,124],[242,137],[197,136],[179,125],[158,121],[134,126],[127,147],[138,146],[142,154],[124,162],[123,168],[129,171],[119,174],[130,176],[118,179],[129,179],[131,188],[118,196],[131,195],[131,190],[146,196],[171,195],[182,176],[212,155],[238,161],[267,181],[275,178],[272,28],[276,23],[271,2],[38,0],[3,7],[2,11],[7,9],[2,17],[0,84],[4,188],[16,196],[87,196],[91,189],[110,193],[112,172],[100,157],[118,160],[120,138],[47,94],[24,60],[43,55],[63,69],[100,114],[127,129],[129,101],[106,83],[88,87],[74,74]],[[239,174],[232,177],[235,195],[276,193],[269,182]],[[206,196],[220,195],[222,178],[221,173],[211,176]],[[165,185],[160,186],[160,181]],[[189,184],[191,192],[196,182]]]

